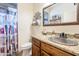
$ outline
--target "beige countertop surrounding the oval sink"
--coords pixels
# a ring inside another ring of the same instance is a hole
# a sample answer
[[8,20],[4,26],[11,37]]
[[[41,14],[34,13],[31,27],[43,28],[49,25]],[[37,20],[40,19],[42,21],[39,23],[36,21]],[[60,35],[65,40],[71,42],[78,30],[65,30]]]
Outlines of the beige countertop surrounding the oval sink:
[[62,45],[62,44],[58,44],[58,43],[55,43],[55,42],[51,42],[47,39],[47,36],[45,35],[42,35],[42,34],[32,34],[32,37],[35,37],[37,38],[38,40],[40,41],[43,41],[45,43],[48,43],[52,46],[55,46],[61,50],[64,50],[64,51],[67,51],[69,53],[72,53],[74,55],[77,55],[79,56],[79,40],[78,39],[74,39],[74,40],[77,40],[78,41],[78,45],[77,46],[67,46],[67,45]]

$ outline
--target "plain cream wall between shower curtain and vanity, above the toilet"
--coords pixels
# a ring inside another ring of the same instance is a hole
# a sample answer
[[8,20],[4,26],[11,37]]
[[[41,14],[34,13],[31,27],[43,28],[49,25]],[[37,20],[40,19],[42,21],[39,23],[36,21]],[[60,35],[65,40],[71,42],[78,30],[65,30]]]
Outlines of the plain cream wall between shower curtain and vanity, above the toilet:
[[18,40],[19,50],[31,38],[31,23],[33,19],[33,4],[18,4]]

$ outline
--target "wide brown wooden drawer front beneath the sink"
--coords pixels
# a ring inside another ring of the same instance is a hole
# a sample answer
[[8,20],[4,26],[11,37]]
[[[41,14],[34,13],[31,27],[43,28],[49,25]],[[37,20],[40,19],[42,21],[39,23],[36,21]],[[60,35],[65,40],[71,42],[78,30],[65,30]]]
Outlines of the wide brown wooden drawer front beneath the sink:
[[49,44],[41,43],[41,49],[46,51],[51,56],[72,56],[72,54],[62,51],[58,48],[55,48]]

